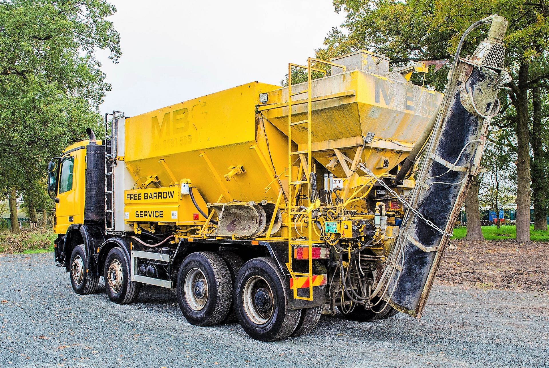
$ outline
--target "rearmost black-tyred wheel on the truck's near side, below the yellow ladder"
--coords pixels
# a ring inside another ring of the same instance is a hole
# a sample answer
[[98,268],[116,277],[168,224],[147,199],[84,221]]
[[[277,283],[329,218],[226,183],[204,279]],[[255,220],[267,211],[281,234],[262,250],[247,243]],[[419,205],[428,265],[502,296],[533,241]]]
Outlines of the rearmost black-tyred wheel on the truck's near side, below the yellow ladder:
[[240,268],[234,310],[244,331],[255,340],[280,340],[298,326],[301,309],[289,308],[286,289],[270,257],[253,258]]

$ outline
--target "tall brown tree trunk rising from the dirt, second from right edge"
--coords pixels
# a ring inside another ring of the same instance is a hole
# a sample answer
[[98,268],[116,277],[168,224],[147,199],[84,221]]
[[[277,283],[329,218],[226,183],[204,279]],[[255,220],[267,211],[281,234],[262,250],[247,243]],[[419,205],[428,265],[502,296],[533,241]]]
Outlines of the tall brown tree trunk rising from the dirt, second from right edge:
[[528,116],[528,64],[520,64],[517,110],[517,241],[530,241],[530,147]]

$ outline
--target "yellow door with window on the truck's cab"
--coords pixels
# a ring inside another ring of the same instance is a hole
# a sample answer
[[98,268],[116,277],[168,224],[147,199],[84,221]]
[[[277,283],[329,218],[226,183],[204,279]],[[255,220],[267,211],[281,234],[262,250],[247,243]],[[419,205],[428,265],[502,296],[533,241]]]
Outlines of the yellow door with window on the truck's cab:
[[55,233],[65,234],[69,225],[75,223],[75,156],[70,154],[61,158],[59,166],[57,190],[59,202],[55,204],[55,217],[57,217]]

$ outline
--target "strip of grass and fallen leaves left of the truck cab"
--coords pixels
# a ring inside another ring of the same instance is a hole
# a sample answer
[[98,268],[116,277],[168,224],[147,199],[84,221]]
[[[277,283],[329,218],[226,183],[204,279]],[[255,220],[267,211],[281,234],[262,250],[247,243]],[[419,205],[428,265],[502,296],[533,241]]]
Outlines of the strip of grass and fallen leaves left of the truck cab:
[[45,253],[53,252],[53,240],[57,234],[52,231],[44,233],[40,229],[36,231],[26,230],[19,234],[14,234],[9,230],[3,229],[0,232],[0,253]]

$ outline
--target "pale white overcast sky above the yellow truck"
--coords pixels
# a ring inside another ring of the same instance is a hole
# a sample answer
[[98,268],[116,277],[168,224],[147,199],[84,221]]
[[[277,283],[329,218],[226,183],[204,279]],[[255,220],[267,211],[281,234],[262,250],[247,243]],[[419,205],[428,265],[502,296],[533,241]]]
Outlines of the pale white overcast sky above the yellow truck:
[[110,3],[122,58],[99,54],[113,86],[100,111],[126,116],[254,80],[278,85],[288,62],[315,56],[344,20],[332,0]]

